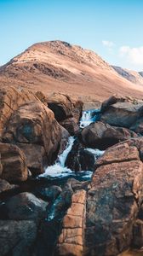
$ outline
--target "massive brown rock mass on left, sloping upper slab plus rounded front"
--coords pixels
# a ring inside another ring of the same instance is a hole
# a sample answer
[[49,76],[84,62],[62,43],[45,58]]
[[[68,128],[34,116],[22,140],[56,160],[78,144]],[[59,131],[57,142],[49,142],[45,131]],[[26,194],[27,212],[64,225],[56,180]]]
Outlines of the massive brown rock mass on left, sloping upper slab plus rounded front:
[[26,90],[0,90],[0,101],[3,142],[17,144],[24,151],[33,174],[43,172],[45,162],[51,164],[60,148],[62,131],[54,113]]

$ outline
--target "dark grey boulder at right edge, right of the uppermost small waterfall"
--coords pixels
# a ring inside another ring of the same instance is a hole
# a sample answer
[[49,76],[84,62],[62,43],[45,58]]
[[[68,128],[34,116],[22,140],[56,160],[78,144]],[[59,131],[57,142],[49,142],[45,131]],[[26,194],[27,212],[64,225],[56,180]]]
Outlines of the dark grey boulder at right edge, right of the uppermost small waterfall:
[[122,98],[110,98],[102,104],[101,111],[101,120],[107,124],[129,129],[134,127],[133,130],[138,132],[138,125],[142,122],[143,102],[123,102]]

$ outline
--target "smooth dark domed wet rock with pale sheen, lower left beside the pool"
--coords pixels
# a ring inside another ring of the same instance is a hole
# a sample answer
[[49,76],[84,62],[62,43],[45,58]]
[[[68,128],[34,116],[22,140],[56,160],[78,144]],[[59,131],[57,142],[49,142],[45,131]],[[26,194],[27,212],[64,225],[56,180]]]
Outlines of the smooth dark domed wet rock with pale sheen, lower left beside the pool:
[[45,201],[39,200],[35,195],[23,192],[11,197],[3,207],[9,219],[38,221],[45,216],[47,205]]

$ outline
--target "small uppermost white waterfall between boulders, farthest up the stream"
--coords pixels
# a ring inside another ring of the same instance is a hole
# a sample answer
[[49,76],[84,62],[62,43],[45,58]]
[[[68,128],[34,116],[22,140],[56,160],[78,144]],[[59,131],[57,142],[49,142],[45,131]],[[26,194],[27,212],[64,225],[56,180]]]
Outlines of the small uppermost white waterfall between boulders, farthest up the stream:
[[96,119],[96,116],[93,113],[95,113],[95,110],[87,110],[87,111],[83,111],[83,116],[80,120],[80,127],[84,128],[88,125],[90,125],[91,123],[93,123]]

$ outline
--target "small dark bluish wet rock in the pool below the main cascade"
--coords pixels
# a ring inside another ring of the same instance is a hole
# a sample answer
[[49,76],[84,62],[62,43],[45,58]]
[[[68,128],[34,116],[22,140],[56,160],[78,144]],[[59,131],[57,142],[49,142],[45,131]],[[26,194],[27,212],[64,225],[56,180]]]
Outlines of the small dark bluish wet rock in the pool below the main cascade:
[[59,186],[50,186],[49,188],[43,188],[40,191],[40,195],[48,201],[54,201],[62,192]]

